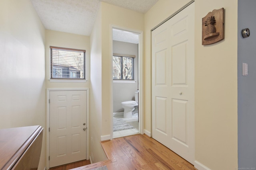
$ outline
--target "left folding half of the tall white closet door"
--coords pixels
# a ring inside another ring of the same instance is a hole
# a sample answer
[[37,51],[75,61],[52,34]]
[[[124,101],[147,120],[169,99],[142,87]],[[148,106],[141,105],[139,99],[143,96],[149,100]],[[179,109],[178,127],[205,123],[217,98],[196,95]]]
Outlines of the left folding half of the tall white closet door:
[[169,147],[169,38],[170,24],[166,22],[152,31],[152,136]]

